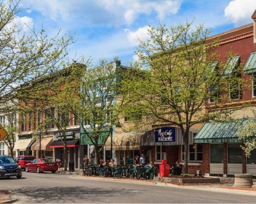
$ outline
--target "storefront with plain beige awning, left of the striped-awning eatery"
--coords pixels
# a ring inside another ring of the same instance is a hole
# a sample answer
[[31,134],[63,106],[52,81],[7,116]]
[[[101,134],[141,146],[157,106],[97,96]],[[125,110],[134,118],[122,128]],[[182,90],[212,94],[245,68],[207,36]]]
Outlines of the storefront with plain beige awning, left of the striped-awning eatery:
[[[140,156],[140,141],[142,133],[119,133],[113,135],[112,148],[113,148],[113,159],[116,164],[126,165],[134,164],[135,156]],[[111,137],[106,140],[105,150],[111,150]],[[146,156],[146,154],[145,154]]]

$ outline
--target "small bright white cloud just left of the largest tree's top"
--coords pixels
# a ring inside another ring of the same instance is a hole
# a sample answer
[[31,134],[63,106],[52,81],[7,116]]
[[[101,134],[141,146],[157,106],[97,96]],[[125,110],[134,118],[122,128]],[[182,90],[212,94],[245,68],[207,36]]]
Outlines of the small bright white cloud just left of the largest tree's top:
[[127,32],[127,38],[130,41],[130,43],[134,46],[139,45],[139,40],[147,40],[150,38],[148,35],[148,26],[139,28],[137,31],[130,31],[129,29],[125,29],[124,31]]

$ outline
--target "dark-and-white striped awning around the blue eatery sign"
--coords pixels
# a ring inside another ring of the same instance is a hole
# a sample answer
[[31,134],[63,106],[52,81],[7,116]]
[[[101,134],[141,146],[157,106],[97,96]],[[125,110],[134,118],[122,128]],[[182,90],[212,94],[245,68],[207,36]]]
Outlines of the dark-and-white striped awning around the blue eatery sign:
[[[191,129],[189,131],[189,139],[188,143],[193,144],[193,138],[196,133],[196,129]],[[165,146],[171,146],[171,145],[181,145],[184,144],[182,136],[181,136],[181,129],[180,127],[176,127],[176,140],[175,142],[156,142],[155,140],[155,130],[151,130],[146,132],[141,136],[140,141],[141,146],[155,146],[155,145],[165,145]]]

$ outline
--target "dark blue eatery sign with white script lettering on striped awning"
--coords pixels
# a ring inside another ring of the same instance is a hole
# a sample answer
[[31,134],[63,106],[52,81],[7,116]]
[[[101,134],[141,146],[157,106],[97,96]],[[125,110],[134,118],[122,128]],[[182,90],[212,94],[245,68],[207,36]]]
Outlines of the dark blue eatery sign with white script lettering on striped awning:
[[156,142],[175,142],[176,127],[161,127],[155,132]]

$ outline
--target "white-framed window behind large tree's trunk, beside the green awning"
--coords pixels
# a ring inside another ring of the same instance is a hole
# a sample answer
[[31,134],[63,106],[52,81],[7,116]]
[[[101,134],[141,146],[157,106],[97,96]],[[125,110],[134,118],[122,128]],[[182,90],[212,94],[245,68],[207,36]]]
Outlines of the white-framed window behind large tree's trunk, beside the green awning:
[[[182,145],[182,161],[184,161],[185,148]],[[202,162],[203,160],[203,145],[191,144],[188,146],[188,162]]]

